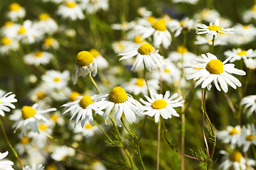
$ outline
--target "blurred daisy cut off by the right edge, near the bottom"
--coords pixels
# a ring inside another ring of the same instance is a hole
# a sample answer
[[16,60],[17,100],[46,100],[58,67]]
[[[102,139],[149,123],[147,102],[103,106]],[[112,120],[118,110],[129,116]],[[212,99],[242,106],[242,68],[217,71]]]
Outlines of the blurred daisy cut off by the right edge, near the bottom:
[[242,132],[238,140],[238,146],[243,145],[243,152],[247,152],[250,145],[256,145],[256,131],[253,124],[242,127]]

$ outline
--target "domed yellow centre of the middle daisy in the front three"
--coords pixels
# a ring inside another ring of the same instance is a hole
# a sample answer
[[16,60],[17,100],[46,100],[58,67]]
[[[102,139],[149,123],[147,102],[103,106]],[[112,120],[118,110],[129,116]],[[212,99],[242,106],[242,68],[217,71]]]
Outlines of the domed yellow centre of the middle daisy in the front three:
[[116,86],[110,91],[109,100],[113,103],[124,103],[127,100],[127,93],[122,87]]

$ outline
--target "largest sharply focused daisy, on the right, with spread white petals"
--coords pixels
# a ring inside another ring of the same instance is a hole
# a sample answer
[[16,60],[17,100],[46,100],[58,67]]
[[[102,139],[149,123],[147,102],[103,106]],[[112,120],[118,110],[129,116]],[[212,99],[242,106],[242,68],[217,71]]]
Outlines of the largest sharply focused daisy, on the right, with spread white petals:
[[[246,73],[240,69],[235,69],[235,64],[226,64],[230,57],[221,62],[217,59],[215,55],[210,54],[209,52],[206,55],[201,55],[203,59],[197,59],[196,62],[198,64],[193,64],[188,66],[187,68],[197,68],[198,72],[189,75],[186,79],[194,79],[196,81],[195,88],[202,82],[201,88],[204,89],[206,86],[208,90],[210,90],[211,82],[214,82],[214,85],[218,91],[223,89],[225,93],[228,92],[228,84],[236,89],[236,86],[242,86],[240,81],[230,75],[230,73],[238,74],[238,75],[245,75]],[[218,82],[220,86],[218,85]]]

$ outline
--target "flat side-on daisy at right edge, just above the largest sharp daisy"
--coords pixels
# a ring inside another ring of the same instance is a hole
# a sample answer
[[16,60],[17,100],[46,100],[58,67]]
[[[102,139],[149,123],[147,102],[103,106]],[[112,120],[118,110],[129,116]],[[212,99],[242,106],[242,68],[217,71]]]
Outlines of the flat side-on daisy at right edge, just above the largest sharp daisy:
[[256,57],[256,51],[252,49],[241,50],[240,48],[238,48],[238,49],[228,50],[224,52],[224,55],[226,57],[232,57],[230,59],[230,62],[235,62],[235,60],[241,60],[241,59],[246,60],[247,58],[250,58],[250,57]]

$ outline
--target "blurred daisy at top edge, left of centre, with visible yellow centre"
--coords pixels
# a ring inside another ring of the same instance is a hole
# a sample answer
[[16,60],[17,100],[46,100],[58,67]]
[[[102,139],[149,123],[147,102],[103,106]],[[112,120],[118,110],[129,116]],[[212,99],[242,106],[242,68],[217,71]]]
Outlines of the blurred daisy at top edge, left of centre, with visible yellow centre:
[[70,18],[72,21],[85,18],[85,15],[82,13],[82,6],[73,0],[64,1],[63,4],[58,7],[57,13],[63,18]]

